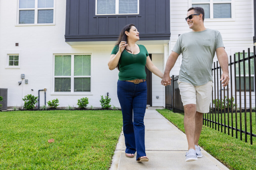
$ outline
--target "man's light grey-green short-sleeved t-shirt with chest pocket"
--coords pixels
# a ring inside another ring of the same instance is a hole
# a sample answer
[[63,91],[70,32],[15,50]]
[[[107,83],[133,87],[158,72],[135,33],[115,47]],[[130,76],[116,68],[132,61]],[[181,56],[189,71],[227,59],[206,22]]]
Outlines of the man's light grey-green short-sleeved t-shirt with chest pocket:
[[224,47],[219,31],[206,29],[191,31],[179,36],[173,51],[182,53],[179,80],[194,86],[212,81],[212,62],[215,51]]

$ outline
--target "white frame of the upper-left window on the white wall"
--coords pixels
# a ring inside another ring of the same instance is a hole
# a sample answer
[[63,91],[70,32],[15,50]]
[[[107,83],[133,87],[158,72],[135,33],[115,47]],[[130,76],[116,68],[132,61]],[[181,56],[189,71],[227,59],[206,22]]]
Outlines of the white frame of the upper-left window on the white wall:
[[[37,23],[38,10],[53,9],[53,23]],[[20,10],[35,10],[34,24],[19,24],[19,11]],[[15,26],[31,26],[31,25],[55,25],[55,11],[56,11],[56,0],[53,2],[53,8],[38,8],[38,0],[35,0],[35,8],[19,8],[19,0],[17,0],[17,16]]]

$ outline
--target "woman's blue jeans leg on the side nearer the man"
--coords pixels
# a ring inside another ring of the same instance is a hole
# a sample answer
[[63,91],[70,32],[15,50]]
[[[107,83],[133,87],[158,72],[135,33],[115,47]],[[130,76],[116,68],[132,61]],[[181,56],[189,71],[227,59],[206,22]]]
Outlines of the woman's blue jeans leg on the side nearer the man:
[[145,152],[145,126],[144,115],[147,105],[147,83],[136,84],[135,96],[133,98],[133,129],[135,134],[135,143],[137,156],[146,156]]

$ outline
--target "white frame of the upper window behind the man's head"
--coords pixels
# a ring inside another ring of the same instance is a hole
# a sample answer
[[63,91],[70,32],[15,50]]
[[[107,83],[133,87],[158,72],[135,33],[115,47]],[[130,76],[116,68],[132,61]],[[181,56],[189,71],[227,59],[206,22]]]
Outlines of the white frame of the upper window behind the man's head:
[[[218,1],[213,2],[213,0],[210,0],[210,2],[193,2],[192,0],[188,1],[189,8],[192,7],[192,4],[210,4],[210,18],[205,18],[204,22],[212,22],[212,21],[235,21],[235,1]],[[231,4],[231,18],[213,18],[213,4]]]

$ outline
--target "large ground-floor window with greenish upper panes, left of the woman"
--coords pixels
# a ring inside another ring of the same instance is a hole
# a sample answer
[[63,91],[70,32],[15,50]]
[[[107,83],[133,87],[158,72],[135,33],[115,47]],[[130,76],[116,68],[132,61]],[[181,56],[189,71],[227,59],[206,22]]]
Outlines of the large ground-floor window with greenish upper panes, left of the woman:
[[54,91],[90,92],[91,55],[55,55]]

